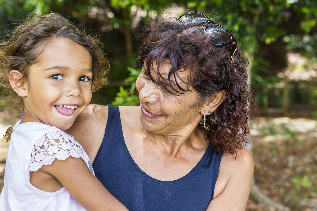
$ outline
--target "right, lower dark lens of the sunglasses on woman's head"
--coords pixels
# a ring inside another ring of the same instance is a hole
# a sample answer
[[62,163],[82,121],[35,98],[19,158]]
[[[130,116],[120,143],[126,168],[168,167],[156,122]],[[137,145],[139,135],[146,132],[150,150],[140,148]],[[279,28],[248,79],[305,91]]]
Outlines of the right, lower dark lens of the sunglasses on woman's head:
[[210,25],[205,29],[206,37],[215,45],[221,45],[232,39],[228,31],[217,25]]

